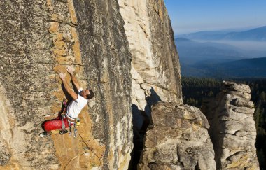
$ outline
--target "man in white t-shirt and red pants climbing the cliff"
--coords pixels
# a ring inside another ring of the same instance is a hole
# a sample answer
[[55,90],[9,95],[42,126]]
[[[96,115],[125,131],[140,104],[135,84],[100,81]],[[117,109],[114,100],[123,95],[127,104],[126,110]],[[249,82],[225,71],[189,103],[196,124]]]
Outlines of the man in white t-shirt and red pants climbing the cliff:
[[58,130],[58,129],[62,130],[64,129],[62,127],[65,128],[71,127],[71,124],[73,125],[73,123],[76,122],[78,114],[86,106],[88,100],[94,97],[94,92],[92,90],[88,89],[83,90],[82,88],[80,88],[80,84],[78,83],[78,80],[74,76],[75,69],[73,68],[73,66],[68,66],[66,68],[66,71],[70,74],[74,89],[78,90],[78,92],[76,93],[75,91],[73,91],[69,86],[69,83],[66,82],[66,73],[59,73],[59,78],[61,78],[62,80],[62,85],[64,85],[66,92],[71,96],[73,100],[68,104],[66,108],[66,113],[64,114],[63,117],[62,115],[59,115],[54,120],[47,120],[43,122],[42,127],[45,132],[40,134],[40,136],[43,138],[50,135],[51,130]]

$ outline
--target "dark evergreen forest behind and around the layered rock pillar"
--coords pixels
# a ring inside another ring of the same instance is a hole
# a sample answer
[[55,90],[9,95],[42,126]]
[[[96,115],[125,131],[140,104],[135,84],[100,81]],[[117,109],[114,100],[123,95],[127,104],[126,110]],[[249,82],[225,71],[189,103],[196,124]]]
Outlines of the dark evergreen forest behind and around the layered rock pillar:
[[[214,97],[220,92],[223,80],[211,78],[182,78],[183,102],[200,108],[202,99]],[[252,101],[255,104],[254,120],[257,129],[257,148],[260,169],[266,167],[266,79],[236,79],[251,87]]]

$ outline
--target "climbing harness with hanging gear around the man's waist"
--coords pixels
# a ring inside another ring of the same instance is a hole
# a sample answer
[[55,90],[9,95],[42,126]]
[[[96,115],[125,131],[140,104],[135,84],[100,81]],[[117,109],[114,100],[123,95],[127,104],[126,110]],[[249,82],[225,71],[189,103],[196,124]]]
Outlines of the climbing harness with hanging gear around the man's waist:
[[64,106],[64,111],[61,113],[62,131],[60,131],[59,134],[67,133],[66,126],[64,125],[64,119],[66,119],[67,122],[69,123],[69,136],[72,135],[72,128],[73,128],[73,137],[76,138],[78,133],[78,129],[76,127],[80,125],[80,120],[79,118],[71,118],[71,116],[66,113],[67,103],[65,98],[63,99],[62,105]]

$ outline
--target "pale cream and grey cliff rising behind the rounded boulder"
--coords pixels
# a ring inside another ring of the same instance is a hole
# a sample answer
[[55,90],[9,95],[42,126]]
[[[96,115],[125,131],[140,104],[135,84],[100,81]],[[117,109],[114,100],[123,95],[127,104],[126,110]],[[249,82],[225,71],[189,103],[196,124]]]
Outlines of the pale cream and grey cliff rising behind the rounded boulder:
[[151,89],[162,101],[182,103],[179,57],[165,3],[162,0],[118,0],[132,53],[132,102],[151,112]]

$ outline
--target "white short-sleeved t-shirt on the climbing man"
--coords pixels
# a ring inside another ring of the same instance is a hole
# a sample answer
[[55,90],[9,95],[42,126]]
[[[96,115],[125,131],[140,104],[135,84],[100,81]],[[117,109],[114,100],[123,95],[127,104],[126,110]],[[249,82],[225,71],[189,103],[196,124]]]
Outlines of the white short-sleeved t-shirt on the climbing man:
[[66,115],[69,115],[71,118],[78,118],[81,110],[86,106],[87,99],[80,95],[82,88],[78,90],[78,99],[72,100],[67,106]]

